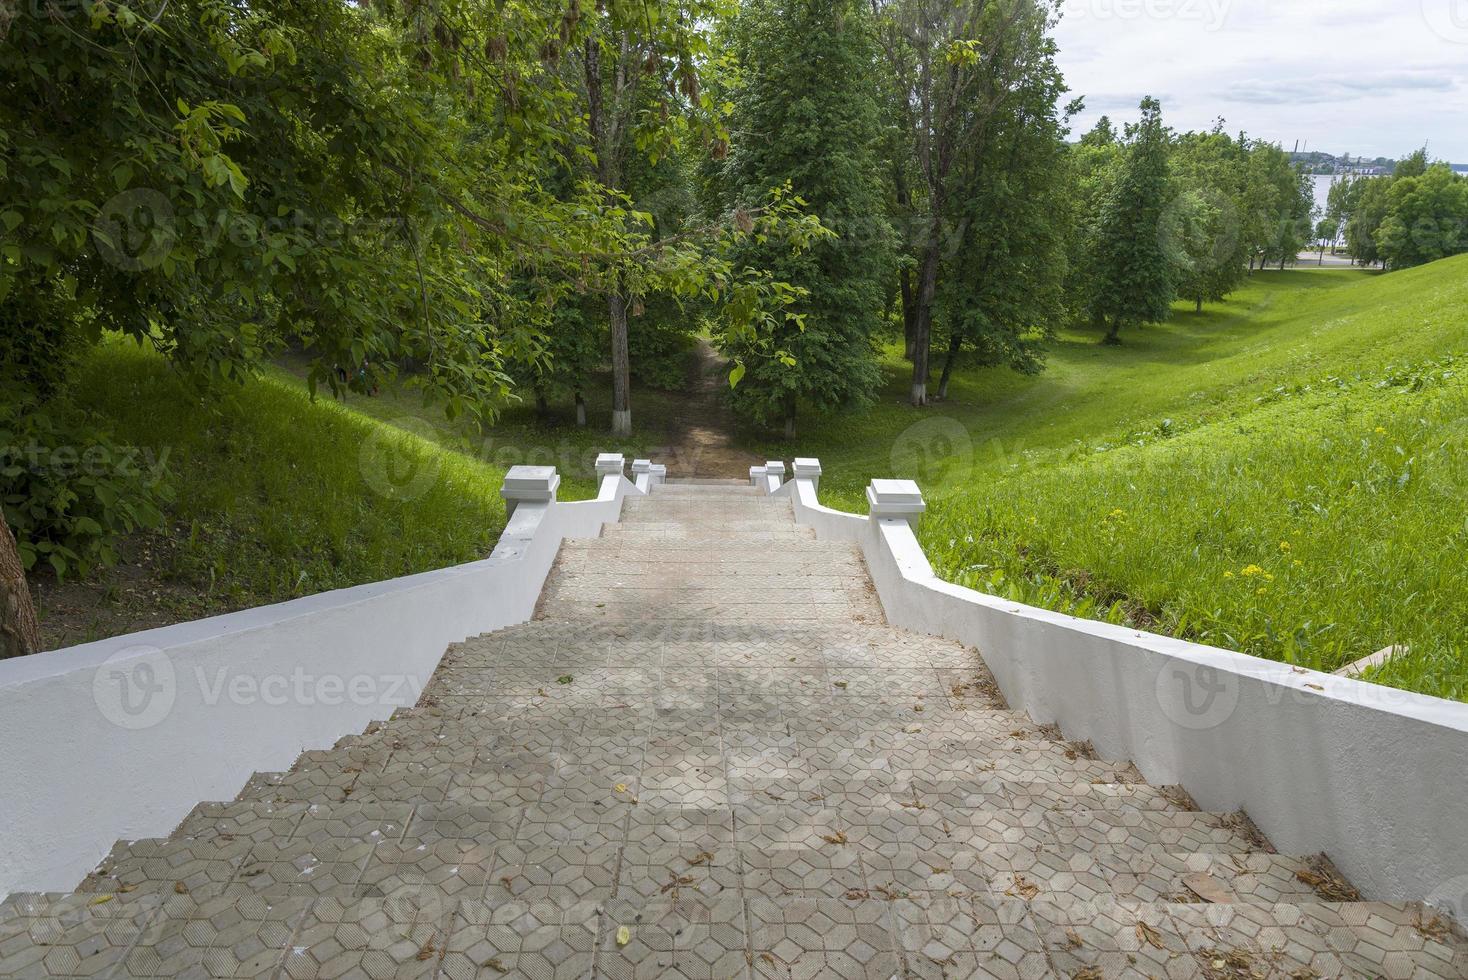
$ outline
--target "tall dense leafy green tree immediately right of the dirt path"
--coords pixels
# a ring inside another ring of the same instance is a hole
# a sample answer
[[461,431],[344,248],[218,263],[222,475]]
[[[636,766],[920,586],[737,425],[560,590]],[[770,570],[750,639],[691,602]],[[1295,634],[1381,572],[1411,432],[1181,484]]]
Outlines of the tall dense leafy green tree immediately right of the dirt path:
[[740,84],[727,192],[749,208],[788,185],[835,232],[800,255],[780,241],[749,245],[746,261],[806,290],[793,307],[799,320],[728,351],[746,368],[735,411],[782,420],[787,437],[800,403],[868,403],[881,380],[871,337],[894,255],[881,207],[871,29],[857,0],[752,0],[734,29]]

